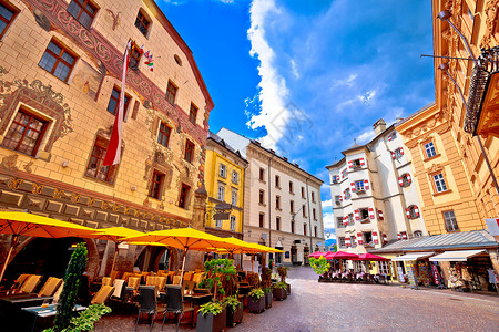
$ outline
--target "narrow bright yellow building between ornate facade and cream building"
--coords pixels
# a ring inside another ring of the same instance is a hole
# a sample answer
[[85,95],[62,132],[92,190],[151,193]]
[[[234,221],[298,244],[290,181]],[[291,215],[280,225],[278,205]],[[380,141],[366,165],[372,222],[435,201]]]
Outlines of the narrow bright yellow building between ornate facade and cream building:
[[207,232],[243,239],[246,166],[247,162],[238,151],[208,133],[205,165]]

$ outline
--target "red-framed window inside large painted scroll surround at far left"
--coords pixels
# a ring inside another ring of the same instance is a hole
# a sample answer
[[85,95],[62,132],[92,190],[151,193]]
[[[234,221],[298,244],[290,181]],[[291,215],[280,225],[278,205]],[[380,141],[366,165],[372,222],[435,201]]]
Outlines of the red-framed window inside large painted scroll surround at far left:
[[28,113],[21,107],[6,134],[2,146],[30,156],[35,156],[45,129],[45,121]]

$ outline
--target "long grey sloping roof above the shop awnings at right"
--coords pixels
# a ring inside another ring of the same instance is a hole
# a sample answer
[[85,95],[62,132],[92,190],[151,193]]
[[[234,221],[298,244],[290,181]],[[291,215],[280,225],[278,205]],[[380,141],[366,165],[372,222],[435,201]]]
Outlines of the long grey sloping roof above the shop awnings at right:
[[471,230],[395,241],[388,246],[371,250],[369,252],[378,253],[490,247],[499,247],[499,243],[487,230]]

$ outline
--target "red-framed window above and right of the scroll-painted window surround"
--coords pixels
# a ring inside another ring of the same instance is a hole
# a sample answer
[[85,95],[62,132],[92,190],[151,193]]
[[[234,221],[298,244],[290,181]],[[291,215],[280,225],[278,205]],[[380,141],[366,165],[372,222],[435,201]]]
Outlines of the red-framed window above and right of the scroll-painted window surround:
[[39,65],[55,77],[67,82],[73,70],[75,59],[77,56],[70,54],[61,44],[52,40],[47,46]]

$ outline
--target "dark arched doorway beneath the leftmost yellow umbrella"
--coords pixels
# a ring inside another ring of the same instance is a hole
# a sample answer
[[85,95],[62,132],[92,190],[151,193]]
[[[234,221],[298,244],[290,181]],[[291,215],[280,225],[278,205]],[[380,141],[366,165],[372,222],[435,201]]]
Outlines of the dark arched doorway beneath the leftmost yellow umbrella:
[[72,245],[86,242],[89,261],[86,270],[93,276],[99,263],[95,243],[81,238],[32,238],[21,242],[6,270],[4,278],[10,284],[22,273],[63,278],[74,248]]

